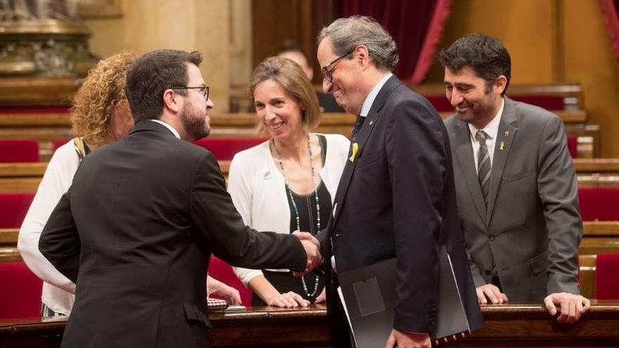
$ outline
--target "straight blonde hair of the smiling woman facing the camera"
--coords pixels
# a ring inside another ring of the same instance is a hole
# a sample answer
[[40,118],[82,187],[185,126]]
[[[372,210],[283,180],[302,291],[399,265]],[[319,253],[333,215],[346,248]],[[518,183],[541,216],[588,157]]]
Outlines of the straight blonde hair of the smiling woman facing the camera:
[[[281,57],[269,57],[262,60],[262,63],[254,69],[250,79],[249,90],[252,102],[255,102],[256,86],[267,79],[277,82],[301,105],[301,125],[305,131],[318,127],[320,123],[318,97],[305,72],[297,63]],[[262,124],[258,124],[258,131],[264,134]]]

